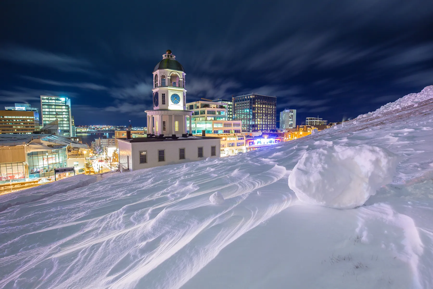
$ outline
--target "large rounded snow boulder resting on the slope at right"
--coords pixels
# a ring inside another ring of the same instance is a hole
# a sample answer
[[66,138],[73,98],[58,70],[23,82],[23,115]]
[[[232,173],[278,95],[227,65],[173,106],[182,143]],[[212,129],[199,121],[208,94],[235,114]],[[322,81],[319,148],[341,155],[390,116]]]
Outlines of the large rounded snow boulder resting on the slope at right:
[[397,163],[397,155],[377,146],[328,146],[304,154],[289,187],[308,204],[355,208],[391,182]]

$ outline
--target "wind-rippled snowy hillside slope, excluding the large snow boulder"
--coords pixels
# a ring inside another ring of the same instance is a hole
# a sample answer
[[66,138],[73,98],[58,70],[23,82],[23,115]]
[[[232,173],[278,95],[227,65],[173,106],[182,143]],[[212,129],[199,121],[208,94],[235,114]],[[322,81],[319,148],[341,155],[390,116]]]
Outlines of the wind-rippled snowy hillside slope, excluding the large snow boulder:
[[[432,88],[296,141],[9,207],[0,287],[433,288]],[[355,209],[298,201],[298,160],[343,144],[398,155],[392,182]]]

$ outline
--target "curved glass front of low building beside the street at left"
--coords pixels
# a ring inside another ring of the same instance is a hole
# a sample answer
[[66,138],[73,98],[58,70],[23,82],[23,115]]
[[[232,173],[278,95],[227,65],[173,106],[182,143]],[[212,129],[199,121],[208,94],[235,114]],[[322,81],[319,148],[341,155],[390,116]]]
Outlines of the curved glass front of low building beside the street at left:
[[54,175],[54,169],[65,168],[68,153],[65,148],[42,150],[27,154],[29,162],[29,178],[48,178]]

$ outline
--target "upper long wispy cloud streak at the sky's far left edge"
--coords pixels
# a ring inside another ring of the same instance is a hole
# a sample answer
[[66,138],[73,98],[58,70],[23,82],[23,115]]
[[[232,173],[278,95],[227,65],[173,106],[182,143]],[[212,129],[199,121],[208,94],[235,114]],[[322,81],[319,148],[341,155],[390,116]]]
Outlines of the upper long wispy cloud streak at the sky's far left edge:
[[0,47],[0,60],[25,65],[49,67],[59,71],[94,73],[88,70],[92,67],[92,64],[85,59],[18,45],[5,45]]

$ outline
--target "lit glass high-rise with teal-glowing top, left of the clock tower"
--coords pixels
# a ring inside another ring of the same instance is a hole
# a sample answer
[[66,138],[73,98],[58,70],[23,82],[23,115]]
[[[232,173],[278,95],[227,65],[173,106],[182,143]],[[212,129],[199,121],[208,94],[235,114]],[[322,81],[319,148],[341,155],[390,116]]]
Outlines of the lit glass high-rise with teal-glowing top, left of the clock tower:
[[72,131],[71,100],[68,97],[41,95],[42,125],[58,120],[59,136],[74,136]]

